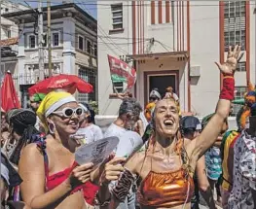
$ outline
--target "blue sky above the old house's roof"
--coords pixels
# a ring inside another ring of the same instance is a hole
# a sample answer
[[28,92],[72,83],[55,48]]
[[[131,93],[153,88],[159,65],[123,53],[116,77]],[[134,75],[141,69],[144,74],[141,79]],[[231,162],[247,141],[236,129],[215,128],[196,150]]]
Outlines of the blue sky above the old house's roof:
[[[41,0],[43,2],[43,6],[47,6],[47,0]],[[16,0],[15,2],[22,3],[24,5],[25,2],[27,2],[32,8],[36,8],[38,5],[37,0]],[[80,8],[82,8],[84,11],[89,13],[92,17],[97,17],[97,11],[96,11],[96,0],[73,0],[74,3],[76,3]],[[62,0],[51,0],[52,5],[58,5],[62,3]]]

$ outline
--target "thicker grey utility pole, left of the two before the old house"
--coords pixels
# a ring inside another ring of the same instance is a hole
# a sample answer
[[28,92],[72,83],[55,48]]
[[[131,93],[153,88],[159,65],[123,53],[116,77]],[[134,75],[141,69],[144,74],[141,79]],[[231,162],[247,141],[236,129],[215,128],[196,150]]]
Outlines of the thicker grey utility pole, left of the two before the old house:
[[44,64],[44,48],[43,48],[43,11],[42,1],[38,0],[38,61],[39,61],[39,81],[45,79],[45,64]]

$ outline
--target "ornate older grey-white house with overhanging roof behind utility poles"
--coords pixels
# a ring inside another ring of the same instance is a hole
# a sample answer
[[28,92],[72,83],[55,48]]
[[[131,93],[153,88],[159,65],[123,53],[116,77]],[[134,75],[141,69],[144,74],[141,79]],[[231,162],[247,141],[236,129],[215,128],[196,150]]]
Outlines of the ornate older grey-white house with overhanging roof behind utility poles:
[[[44,15],[45,78],[49,77],[47,43],[47,8]],[[79,101],[97,100],[96,20],[74,3],[51,7],[53,75],[78,75],[93,86],[90,94],[78,93]],[[18,83],[23,106],[27,89],[39,82],[37,15],[33,10],[12,13],[6,18],[16,21],[22,35],[18,38]]]

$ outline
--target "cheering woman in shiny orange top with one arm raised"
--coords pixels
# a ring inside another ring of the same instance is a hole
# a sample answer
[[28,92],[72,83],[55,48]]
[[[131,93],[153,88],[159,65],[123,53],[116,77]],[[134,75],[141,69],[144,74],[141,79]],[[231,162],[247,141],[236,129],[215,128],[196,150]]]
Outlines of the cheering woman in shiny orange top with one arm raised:
[[[146,151],[126,158],[115,157],[104,167],[98,200],[101,206],[116,207],[128,193],[134,174],[140,177],[138,201],[141,208],[190,208],[194,192],[193,175],[198,159],[217,139],[234,99],[234,73],[240,47],[229,49],[227,61],[216,63],[224,76],[216,113],[195,140],[182,139],[179,110],[171,98],[160,100],[154,111],[154,133]],[[123,166],[123,164],[125,164]],[[117,180],[112,191],[110,181]]]

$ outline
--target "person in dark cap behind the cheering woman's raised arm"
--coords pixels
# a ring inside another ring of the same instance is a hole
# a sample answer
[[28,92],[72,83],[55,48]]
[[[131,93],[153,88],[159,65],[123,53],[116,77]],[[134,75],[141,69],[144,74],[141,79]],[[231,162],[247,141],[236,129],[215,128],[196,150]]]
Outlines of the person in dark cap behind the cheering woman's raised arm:
[[[186,141],[191,141],[195,139],[201,132],[201,122],[198,118],[194,116],[183,117],[180,121],[181,132],[184,136],[185,143]],[[205,159],[204,156],[200,158],[197,162],[197,168],[194,175],[195,183],[195,192],[192,198],[192,207],[193,209],[199,209],[200,203],[205,204],[200,198],[200,192],[203,199],[206,201],[206,204],[210,209],[216,209],[213,195],[210,189],[209,182],[207,180],[205,172]]]

